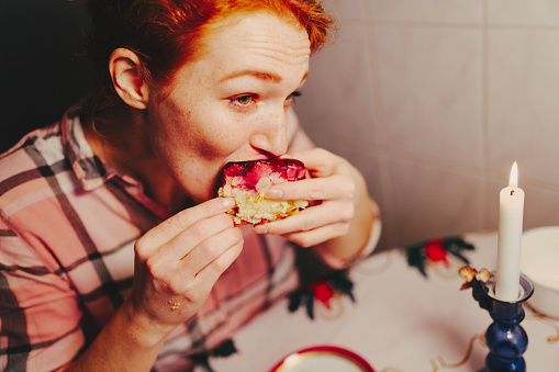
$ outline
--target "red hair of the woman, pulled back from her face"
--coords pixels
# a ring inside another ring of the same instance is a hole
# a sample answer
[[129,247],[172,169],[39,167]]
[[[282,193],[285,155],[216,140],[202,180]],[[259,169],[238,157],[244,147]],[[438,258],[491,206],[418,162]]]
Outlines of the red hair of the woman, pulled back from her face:
[[242,12],[270,11],[306,30],[311,52],[332,33],[333,20],[316,0],[89,0],[92,18],[89,43],[93,61],[89,119],[122,104],[108,74],[112,52],[127,48],[142,60],[149,83],[165,84],[195,56],[204,26]]

